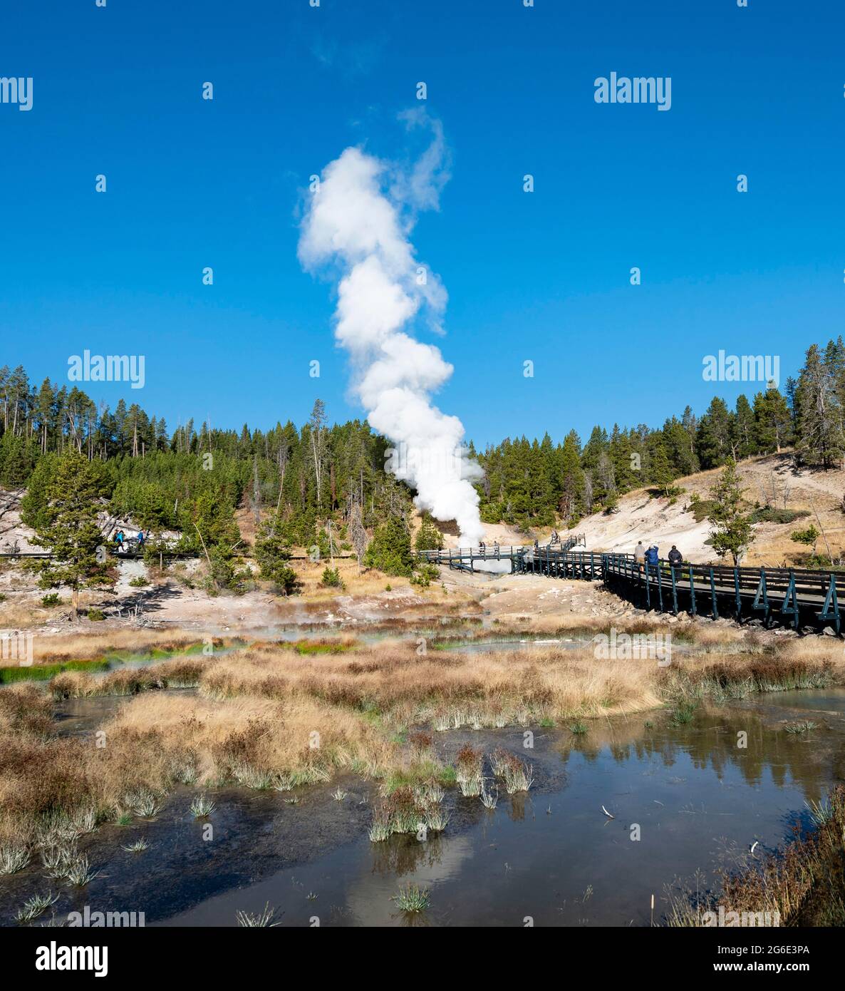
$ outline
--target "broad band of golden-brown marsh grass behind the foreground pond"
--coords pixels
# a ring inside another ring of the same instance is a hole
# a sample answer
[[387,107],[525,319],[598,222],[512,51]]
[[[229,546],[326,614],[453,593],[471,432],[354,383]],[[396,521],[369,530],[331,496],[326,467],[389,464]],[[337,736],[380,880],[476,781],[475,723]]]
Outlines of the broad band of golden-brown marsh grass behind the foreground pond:
[[[137,635],[127,631],[125,643],[131,646]],[[102,725],[109,741],[103,749],[56,736],[50,694],[42,688],[9,685],[0,691],[0,848],[13,852],[5,858],[0,853],[0,867],[4,860],[14,865],[16,849],[37,851],[75,839],[115,814],[124,824],[132,815],[155,816],[179,784],[290,791],[351,772],[374,779],[386,795],[457,784],[480,799],[482,755],[471,747],[472,759],[454,767],[441,763],[436,730],[550,721],[585,728],[596,716],[661,706],[683,713],[753,691],[845,681],[840,651],[828,638],[773,646],[771,637],[762,645],[751,638],[739,643],[743,635],[731,632],[726,641],[736,640],[735,654],[714,640],[716,660],[685,655],[669,668],[602,660],[581,647],[420,656],[414,640],[384,639],[315,655],[254,643],[237,654],[171,658],[98,678],[83,671],[55,676],[51,690],[62,698],[106,690],[128,696]],[[196,646],[195,634],[192,641]],[[153,649],[169,647],[161,637]],[[191,683],[196,696],[157,690]],[[126,804],[127,796],[139,795],[148,802]],[[442,823],[444,814],[432,811],[442,803],[419,805],[414,826]],[[389,835],[393,826],[374,822],[373,830]]]

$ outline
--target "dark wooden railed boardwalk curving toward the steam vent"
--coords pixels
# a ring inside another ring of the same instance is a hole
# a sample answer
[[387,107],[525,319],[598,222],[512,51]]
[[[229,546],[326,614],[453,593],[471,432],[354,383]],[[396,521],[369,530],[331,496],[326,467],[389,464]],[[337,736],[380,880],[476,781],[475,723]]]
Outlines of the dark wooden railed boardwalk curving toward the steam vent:
[[801,627],[842,628],[840,600],[845,599],[845,573],[802,568],[741,568],[729,565],[638,564],[633,554],[576,550],[582,537],[542,547],[509,546],[446,548],[420,551],[433,564],[462,571],[476,562],[506,561],[514,575],[600,581],[616,595],[645,609],[691,615],[757,617],[764,626],[776,622]]

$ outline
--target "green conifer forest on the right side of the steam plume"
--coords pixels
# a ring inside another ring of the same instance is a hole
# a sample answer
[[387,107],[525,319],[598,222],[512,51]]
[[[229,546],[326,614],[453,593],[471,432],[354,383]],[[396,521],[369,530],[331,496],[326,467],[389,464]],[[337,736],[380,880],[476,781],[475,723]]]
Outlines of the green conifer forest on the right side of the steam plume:
[[662,427],[593,427],[585,443],[575,430],[563,443],[508,438],[476,455],[485,522],[576,525],[620,495],[654,487],[673,495],[676,479],[729,461],[792,449],[797,463],[832,468],[845,456],[845,344],[808,348],[782,392],[774,384],[731,408],[714,396],[701,416],[690,406]]

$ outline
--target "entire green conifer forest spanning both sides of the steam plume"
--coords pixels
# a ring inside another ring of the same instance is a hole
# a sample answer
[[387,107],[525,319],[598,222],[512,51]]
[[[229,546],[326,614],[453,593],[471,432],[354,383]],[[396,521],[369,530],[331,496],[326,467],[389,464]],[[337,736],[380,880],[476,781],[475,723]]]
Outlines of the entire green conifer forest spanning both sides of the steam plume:
[[[687,406],[659,428],[614,424],[609,432],[595,426],[585,443],[573,430],[562,443],[547,433],[483,452],[471,446],[484,470],[482,518],[575,525],[582,515],[612,510],[632,489],[672,495],[678,478],[785,448],[802,463],[830,468],[845,455],[843,410],[845,344],[838,338],[812,345],[783,392],[771,385],[750,400],[742,394],[733,408],[714,396],[700,416]],[[49,502],[62,457],[73,452],[91,464],[89,485],[111,512],[153,532],[179,531],[185,548],[237,546],[241,508],[257,530],[271,518],[280,545],[331,553],[337,540],[338,548],[360,550],[361,560],[374,532],[391,570],[410,573],[413,493],[385,472],[388,446],[366,421],[330,425],[320,400],[299,427],[288,420],[238,431],[188,420],[170,431],[163,416],[137,403],[121,399],[112,410],[76,386],[34,385],[20,366],[0,369],[0,486],[29,490],[31,520]]]

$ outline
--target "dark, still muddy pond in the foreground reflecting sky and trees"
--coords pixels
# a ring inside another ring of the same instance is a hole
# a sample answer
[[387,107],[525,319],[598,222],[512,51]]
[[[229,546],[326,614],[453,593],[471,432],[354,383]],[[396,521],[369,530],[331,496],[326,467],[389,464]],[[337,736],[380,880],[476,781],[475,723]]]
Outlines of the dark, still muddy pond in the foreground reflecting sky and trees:
[[[804,720],[816,728],[785,731]],[[661,712],[590,721],[583,735],[535,727],[531,749],[521,729],[440,733],[444,759],[468,740],[487,753],[503,745],[533,763],[535,784],[527,796],[502,793],[493,812],[450,790],[452,820],[425,842],[370,843],[375,794],[355,778],[341,782],[341,801],[337,782],[214,794],[210,838],[185,789],[155,823],[86,837],[80,846],[102,874],[86,889],[60,889],[56,917],[87,904],[145,911],[148,925],[233,926],[239,910],[269,903],[282,926],[523,926],[529,917],[537,926],[648,926],[652,895],[659,921],[679,879],[694,887],[698,872],[706,888],[719,867],[747,862],[755,840],[758,853],[774,848],[807,821],[805,803],[845,778],[843,730],[845,691],[827,689],[698,711],[683,725]],[[147,852],[121,848],[140,835]],[[416,917],[391,900],[407,882],[430,888],[431,907]],[[32,867],[0,879],[0,923],[51,887]]]

